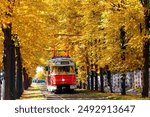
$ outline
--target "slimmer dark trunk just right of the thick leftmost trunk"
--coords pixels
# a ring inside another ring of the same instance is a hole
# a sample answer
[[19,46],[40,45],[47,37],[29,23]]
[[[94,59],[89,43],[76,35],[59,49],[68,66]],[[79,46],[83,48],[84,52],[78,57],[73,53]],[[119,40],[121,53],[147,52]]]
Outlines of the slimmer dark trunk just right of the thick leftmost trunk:
[[17,98],[19,98],[23,93],[23,80],[22,80],[22,60],[20,47],[16,47],[16,61],[17,61],[17,80],[16,80],[16,89],[17,89]]

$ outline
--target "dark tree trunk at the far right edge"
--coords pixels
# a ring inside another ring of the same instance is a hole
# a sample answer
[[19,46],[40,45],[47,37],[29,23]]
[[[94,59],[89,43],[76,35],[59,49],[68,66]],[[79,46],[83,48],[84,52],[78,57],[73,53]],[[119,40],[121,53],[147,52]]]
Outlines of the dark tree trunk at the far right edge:
[[149,41],[144,45],[144,70],[143,70],[143,91],[142,97],[149,95]]

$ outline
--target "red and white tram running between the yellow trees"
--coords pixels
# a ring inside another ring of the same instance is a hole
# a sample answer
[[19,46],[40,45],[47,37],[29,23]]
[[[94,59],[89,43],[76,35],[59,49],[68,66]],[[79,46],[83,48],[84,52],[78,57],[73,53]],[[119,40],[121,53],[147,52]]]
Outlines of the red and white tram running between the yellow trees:
[[75,63],[70,57],[56,56],[49,60],[46,86],[51,92],[76,88]]

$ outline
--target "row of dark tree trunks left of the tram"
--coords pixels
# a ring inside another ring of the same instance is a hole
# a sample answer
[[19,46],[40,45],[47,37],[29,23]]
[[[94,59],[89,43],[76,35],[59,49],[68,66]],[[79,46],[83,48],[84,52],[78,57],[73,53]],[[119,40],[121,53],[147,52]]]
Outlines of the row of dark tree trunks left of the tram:
[[27,89],[31,84],[28,74],[25,71],[23,85],[20,47],[15,47],[11,29],[11,23],[2,25],[2,31],[4,33],[4,100],[15,100],[19,98],[23,93],[23,89]]

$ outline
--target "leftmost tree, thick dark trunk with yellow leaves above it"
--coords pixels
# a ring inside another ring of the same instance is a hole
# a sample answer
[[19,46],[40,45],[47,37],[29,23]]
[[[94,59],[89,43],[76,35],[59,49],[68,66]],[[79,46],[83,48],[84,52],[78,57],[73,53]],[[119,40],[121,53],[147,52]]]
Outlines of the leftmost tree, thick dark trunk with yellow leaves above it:
[[15,0],[3,1],[5,9],[2,9],[2,31],[4,33],[4,55],[3,64],[5,72],[5,96],[4,99],[16,99],[15,95],[15,46],[12,39],[12,13],[15,6]]

